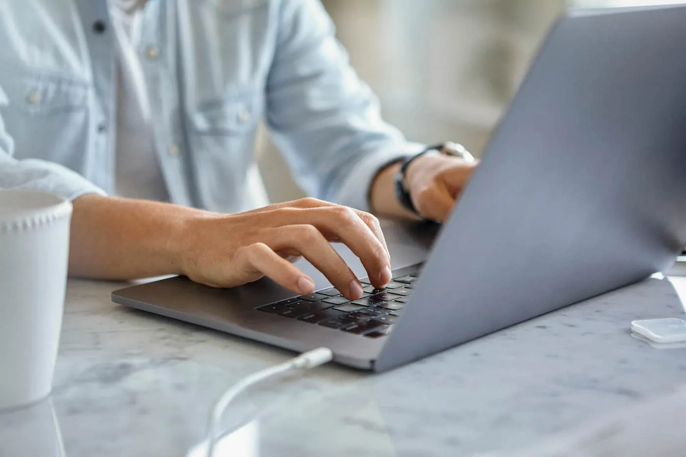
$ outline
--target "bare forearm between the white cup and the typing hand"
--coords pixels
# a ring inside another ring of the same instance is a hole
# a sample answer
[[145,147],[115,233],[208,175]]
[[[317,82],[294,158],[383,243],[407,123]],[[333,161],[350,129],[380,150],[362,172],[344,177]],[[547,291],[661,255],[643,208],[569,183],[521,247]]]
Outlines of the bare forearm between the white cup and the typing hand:
[[104,197],[73,201],[69,274],[139,279],[182,274],[184,224],[207,214],[174,204]]

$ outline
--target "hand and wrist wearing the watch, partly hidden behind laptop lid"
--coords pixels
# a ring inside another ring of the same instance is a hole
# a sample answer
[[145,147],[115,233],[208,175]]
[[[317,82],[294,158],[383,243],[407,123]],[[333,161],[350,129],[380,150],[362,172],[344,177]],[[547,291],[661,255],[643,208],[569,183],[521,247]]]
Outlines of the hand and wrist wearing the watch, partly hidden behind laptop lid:
[[[445,222],[474,172],[477,162],[429,152],[407,167],[406,183],[414,207],[422,218]],[[400,165],[383,169],[372,184],[371,204],[382,215],[416,217],[399,204],[395,195],[395,175]]]

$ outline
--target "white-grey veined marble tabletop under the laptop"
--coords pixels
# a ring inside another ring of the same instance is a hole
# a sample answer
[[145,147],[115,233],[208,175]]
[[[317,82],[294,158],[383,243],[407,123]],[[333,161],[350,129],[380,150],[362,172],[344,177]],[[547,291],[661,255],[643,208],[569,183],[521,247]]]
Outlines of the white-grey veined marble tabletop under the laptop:
[[[54,392],[0,414],[1,457],[185,456],[227,386],[292,357],[115,305],[122,285],[69,280]],[[270,382],[227,414],[224,426],[239,432],[222,455],[473,456],[530,445],[686,382],[686,349],[628,330],[683,316],[684,300],[686,277],[648,279],[381,375],[327,365]]]

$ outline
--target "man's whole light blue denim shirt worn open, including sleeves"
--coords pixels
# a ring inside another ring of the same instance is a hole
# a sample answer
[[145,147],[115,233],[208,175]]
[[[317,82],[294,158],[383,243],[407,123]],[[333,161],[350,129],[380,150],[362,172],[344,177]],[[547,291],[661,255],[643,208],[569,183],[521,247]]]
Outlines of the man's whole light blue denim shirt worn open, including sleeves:
[[[360,209],[422,148],[382,121],[318,0],[148,0],[142,21],[172,202],[238,211],[260,119],[309,195]],[[115,55],[106,0],[0,0],[0,187],[113,192]]]

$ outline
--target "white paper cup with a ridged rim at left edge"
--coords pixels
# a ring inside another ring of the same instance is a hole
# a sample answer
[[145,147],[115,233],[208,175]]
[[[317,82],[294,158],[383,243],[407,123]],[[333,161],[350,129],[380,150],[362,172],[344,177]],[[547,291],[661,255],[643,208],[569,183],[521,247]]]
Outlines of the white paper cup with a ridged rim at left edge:
[[0,410],[49,395],[67,286],[71,202],[0,189]]

